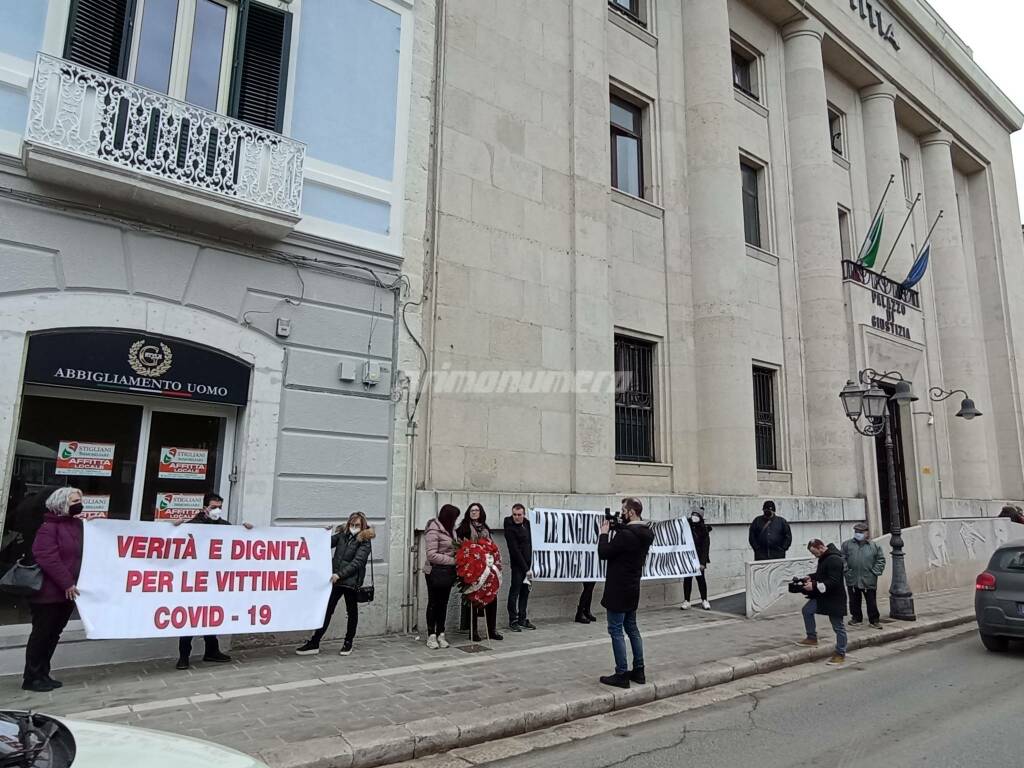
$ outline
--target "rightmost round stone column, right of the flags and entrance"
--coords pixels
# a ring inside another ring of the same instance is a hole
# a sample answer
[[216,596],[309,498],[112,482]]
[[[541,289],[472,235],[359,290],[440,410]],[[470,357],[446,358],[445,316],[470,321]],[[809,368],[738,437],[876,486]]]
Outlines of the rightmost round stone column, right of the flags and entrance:
[[[928,270],[935,295],[935,319],[939,327],[939,351],[942,354],[942,381],[939,383],[945,389],[966,389],[972,397],[978,398],[978,407],[984,411],[981,393],[988,391],[984,346],[971,309],[951,145],[952,137],[945,131],[929,134],[921,142],[929,222],[935,219],[940,209],[943,211],[932,233]],[[949,425],[953,495],[958,499],[990,499],[992,487],[985,425],[955,418],[959,401],[961,397],[955,395],[945,403],[934,406],[945,409]],[[944,492],[947,489],[948,486]]]

